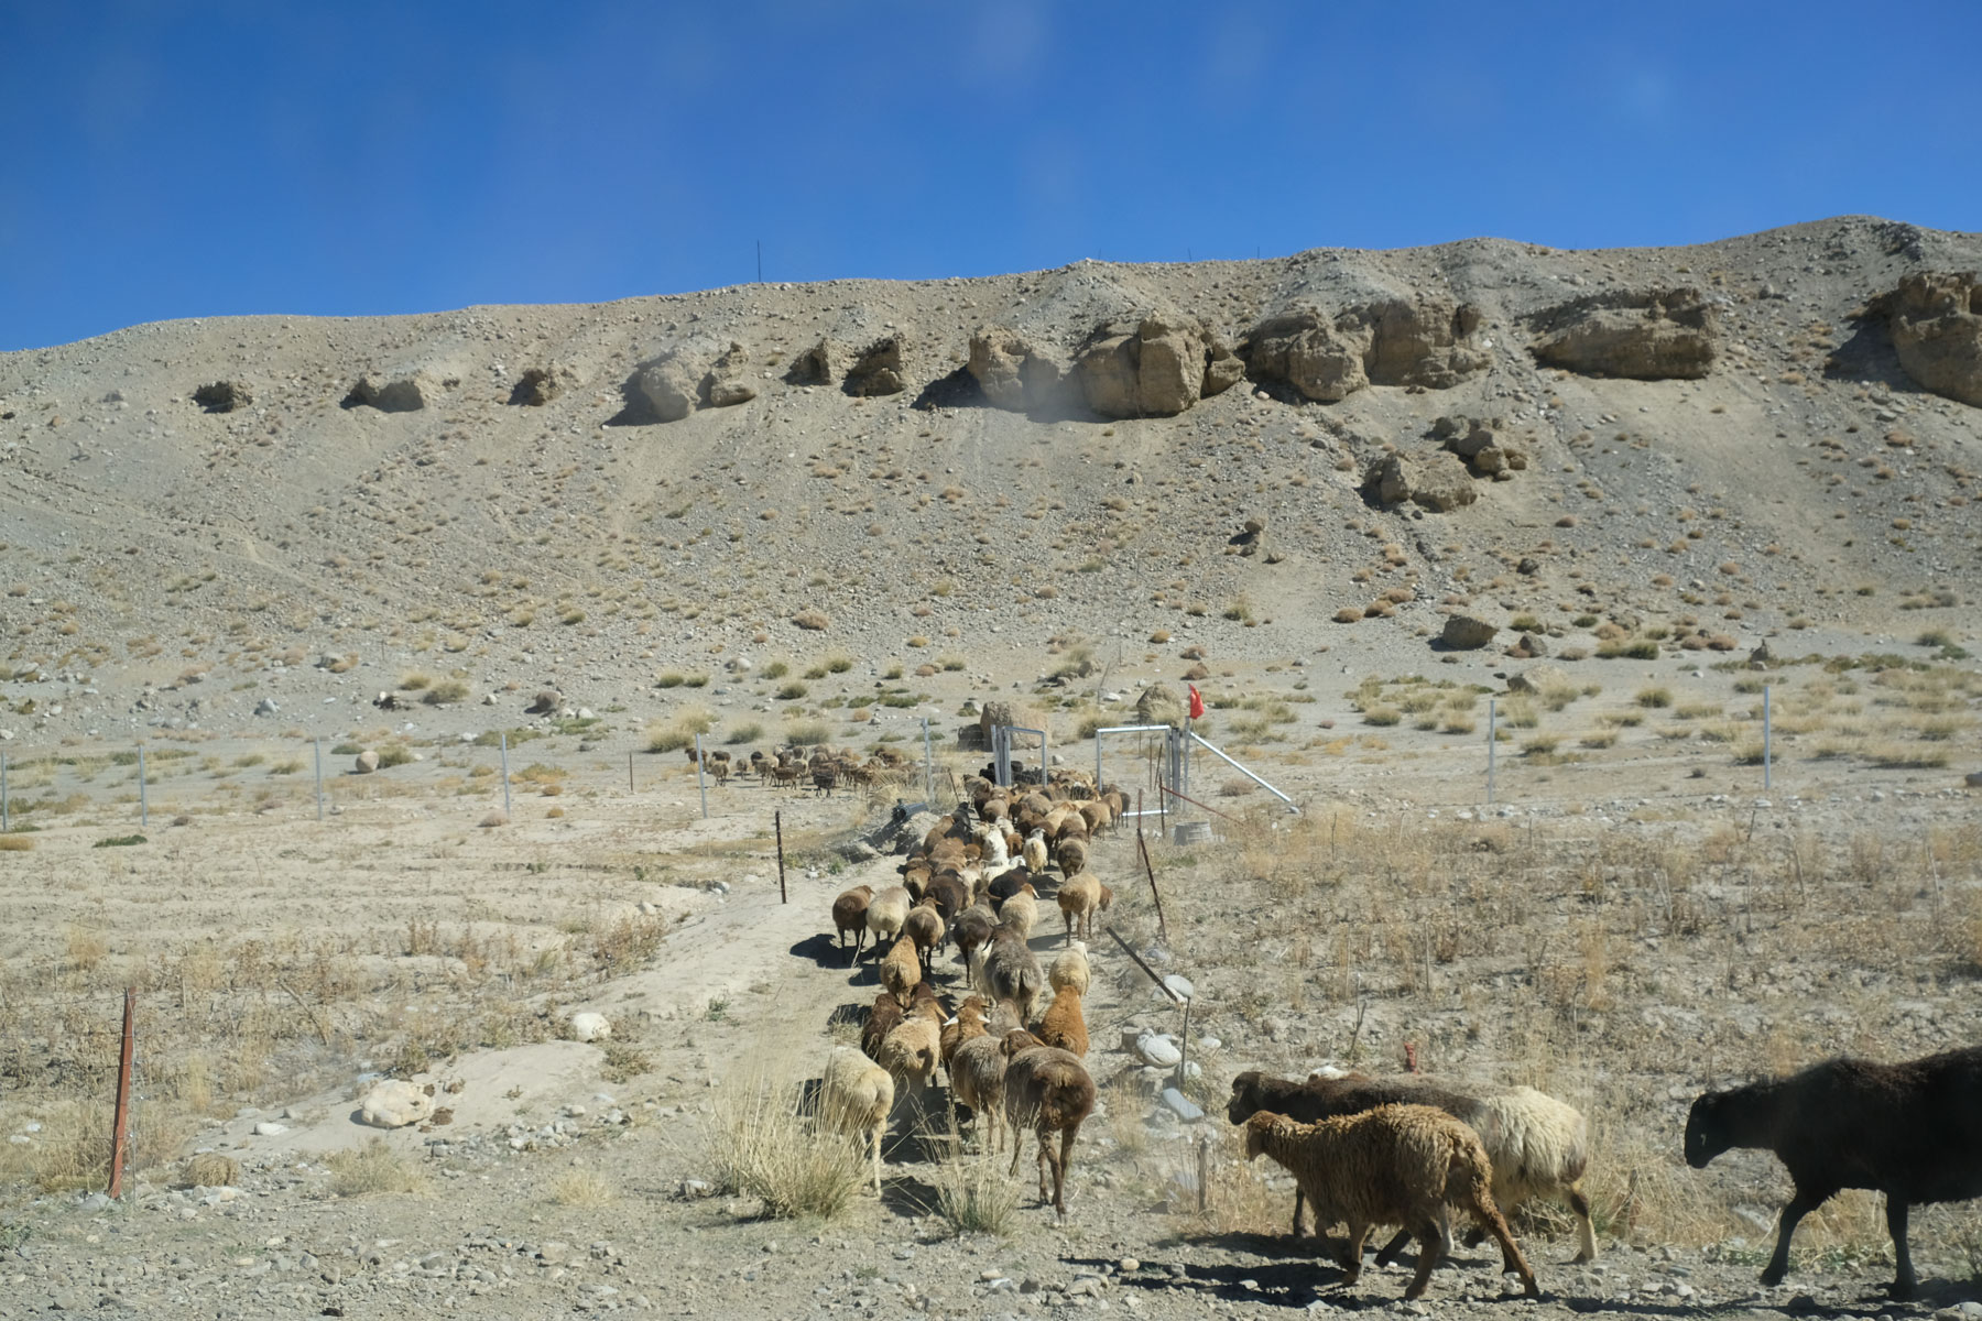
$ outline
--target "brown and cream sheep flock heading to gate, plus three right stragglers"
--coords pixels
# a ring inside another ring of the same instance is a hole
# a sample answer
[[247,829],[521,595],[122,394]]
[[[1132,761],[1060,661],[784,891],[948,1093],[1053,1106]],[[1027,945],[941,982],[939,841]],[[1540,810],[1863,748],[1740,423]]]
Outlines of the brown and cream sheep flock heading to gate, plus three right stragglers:
[[[943,1069],[979,1145],[997,1151],[1011,1133],[1011,1172],[1025,1131],[1035,1133],[1041,1202],[1050,1196],[1064,1218],[1074,1139],[1094,1109],[1082,1016],[1090,972],[1074,937],[1090,935],[1094,913],[1112,899],[1088,871],[1088,842],[1116,824],[1126,798],[1064,770],[1031,790],[981,776],[965,784],[971,800],[914,848],[900,885],[878,893],[856,885],[832,901],[834,949],[846,949],[852,965],[872,939],[880,992],[860,1050],[836,1048],[826,1062],[821,1117],[872,1147],[878,1194],[896,1099],[914,1097],[920,1109]],[[1064,951],[1043,970],[1029,939],[1048,889],[1066,931]],[[945,943],[967,968],[967,994],[953,1008],[932,984]],[[1415,1073],[1320,1069],[1296,1081],[1247,1071],[1233,1079],[1227,1119],[1243,1129],[1249,1161],[1265,1155],[1292,1172],[1296,1240],[1302,1206],[1312,1208],[1316,1234],[1348,1226],[1344,1283],[1360,1275],[1370,1228],[1401,1226],[1377,1264],[1417,1238],[1405,1297],[1423,1295],[1451,1250],[1449,1212],[1459,1208],[1536,1297],[1534,1271],[1506,1224],[1530,1198],[1568,1204],[1574,1260],[1596,1258],[1582,1188],[1590,1125],[1532,1087],[1457,1091]],[[1804,1214],[1841,1188],[1875,1188],[1887,1194],[1897,1256],[1891,1291],[1907,1297],[1917,1285],[1907,1208],[1982,1196],[1982,1048],[1897,1066],[1831,1060],[1788,1079],[1708,1091],[1687,1123],[1687,1161],[1703,1169],[1730,1147],[1774,1151],[1796,1182],[1764,1283],[1782,1281]]]

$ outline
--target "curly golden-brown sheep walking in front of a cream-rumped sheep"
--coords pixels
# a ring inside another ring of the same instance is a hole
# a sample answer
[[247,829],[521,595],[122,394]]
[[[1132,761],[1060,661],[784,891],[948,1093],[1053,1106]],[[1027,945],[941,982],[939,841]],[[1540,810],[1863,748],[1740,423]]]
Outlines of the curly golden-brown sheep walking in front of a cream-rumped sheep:
[[1479,1135],[1433,1105],[1377,1105],[1356,1115],[1300,1123],[1272,1111],[1245,1121],[1245,1159],[1272,1157],[1314,1202],[1316,1224],[1348,1222],[1342,1283],[1362,1275],[1362,1248],[1372,1224],[1401,1224],[1417,1242],[1417,1275],[1403,1291],[1425,1293],[1431,1270],[1451,1252],[1447,1204],[1467,1210],[1494,1236],[1520,1273],[1528,1297],[1540,1297],[1528,1260],[1492,1200],[1492,1163]]

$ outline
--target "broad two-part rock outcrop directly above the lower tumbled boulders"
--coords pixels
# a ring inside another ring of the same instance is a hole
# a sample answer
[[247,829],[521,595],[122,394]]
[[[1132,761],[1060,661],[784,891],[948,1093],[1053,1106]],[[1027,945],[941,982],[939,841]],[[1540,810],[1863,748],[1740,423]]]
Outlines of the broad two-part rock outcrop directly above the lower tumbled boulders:
[[1332,404],[1364,386],[1451,386],[1486,370],[1481,311],[1441,297],[1381,299],[1334,317],[1296,307],[1263,321],[1247,360],[1263,380],[1284,380]]

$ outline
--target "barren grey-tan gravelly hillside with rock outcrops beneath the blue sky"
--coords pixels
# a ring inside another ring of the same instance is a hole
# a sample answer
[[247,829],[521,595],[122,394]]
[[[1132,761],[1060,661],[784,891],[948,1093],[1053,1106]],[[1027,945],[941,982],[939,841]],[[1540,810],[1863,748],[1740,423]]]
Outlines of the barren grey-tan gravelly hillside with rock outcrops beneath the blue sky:
[[[470,699],[761,650],[1031,677],[1157,630],[1395,667],[1451,610],[1966,636],[1978,267],[1978,236],[1839,218],[4,355],[12,723],[246,725],[422,663]],[[145,695],[202,675],[200,711]]]

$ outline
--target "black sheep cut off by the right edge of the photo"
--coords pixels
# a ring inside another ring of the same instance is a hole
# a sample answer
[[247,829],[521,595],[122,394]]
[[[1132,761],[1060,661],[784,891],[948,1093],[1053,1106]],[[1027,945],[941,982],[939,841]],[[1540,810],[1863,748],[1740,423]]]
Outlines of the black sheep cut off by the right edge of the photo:
[[1982,1196],[1982,1048],[1905,1064],[1835,1058],[1802,1073],[1707,1091],[1687,1115],[1687,1165],[1697,1170],[1730,1147],[1774,1151],[1796,1194],[1782,1208],[1762,1283],[1790,1270],[1796,1224],[1841,1188],[1885,1192],[1897,1299],[1919,1275],[1907,1250],[1917,1202]]

